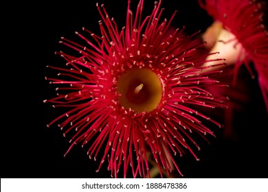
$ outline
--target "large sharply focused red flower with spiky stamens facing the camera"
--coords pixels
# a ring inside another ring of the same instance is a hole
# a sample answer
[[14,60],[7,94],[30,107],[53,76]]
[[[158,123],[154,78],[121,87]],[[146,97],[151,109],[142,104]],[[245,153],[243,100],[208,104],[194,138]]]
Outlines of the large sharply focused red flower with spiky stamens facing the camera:
[[57,96],[45,102],[70,108],[48,126],[58,122],[65,134],[76,130],[69,150],[77,143],[91,143],[87,153],[100,160],[97,171],[108,160],[115,178],[120,169],[126,177],[129,167],[134,178],[149,176],[148,152],[162,177],[162,168],[167,174],[172,169],[179,171],[176,154],[183,155],[188,149],[197,158],[195,133],[214,135],[206,122],[221,127],[196,110],[198,106],[225,108],[226,97],[214,97],[204,89],[223,86],[212,79],[221,71],[202,72],[207,68],[201,67],[207,55],[198,54],[203,43],[194,34],[172,30],[175,14],[170,21],[161,21],[160,4],[155,3],[152,14],[142,19],[143,1],[136,14],[129,10],[129,1],[122,30],[109,18],[104,5],[97,4],[101,36],[83,28],[84,34],[76,34],[85,45],[62,38],[60,43],[75,53],[57,52],[67,67],[49,66],[60,73],[56,78],[46,77],[59,87]]

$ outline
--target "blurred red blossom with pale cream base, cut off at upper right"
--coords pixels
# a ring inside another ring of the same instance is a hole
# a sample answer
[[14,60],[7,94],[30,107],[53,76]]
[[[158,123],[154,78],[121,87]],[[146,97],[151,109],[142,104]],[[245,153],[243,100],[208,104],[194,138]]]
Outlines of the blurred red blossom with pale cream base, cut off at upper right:
[[254,77],[249,67],[253,62],[268,110],[268,33],[263,25],[263,14],[267,10],[265,1],[199,0],[199,4],[215,21],[203,36],[211,51],[219,51],[219,57],[225,58],[227,64],[235,64],[234,84],[242,64]]

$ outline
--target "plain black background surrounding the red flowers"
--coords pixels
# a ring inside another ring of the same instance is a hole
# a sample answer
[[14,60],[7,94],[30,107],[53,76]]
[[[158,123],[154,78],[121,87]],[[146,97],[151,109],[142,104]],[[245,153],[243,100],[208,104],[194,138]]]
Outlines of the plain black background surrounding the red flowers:
[[[153,2],[145,0],[144,15],[150,14]],[[104,166],[96,173],[99,162],[89,160],[87,149],[74,147],[64,158],[69,139],[58,127],[46,124],[57,113],[44,99],[54,96],[52,86],[45,81],[46,65],[64,64],[54,55],[61,49],[61,36],[72,38],[74,32],[87,27],[98,34],[100,16],[97,1],[36,1],[10,5],[4,22],[8,35],[2,63],[1,115],[1,178],[109,178]],[[126,0],[99,1],[122,27],[126,15]],[[132,1],[133,8],[137,1]],[[197,1],[163,1],[164,17],[178,10],[173,23],[186,26],[189,33],[201,32],[212,22],[199,8]],[[134,9],[133,9],[134,10]],[[12,17],[11,17],[12,16]],[[5,53],[6,52],[6,53]],[[249,89],[249,102],[234,111],[234,133],[225,137],[223,130],[210,145],[192,156],[179,158],[178,164],[186,178],[267,178],[268,116],[261,99],[258,82],[241,69],[244,85]],[[248,75],[248,76],[247,76]],[[131,177],[131,176],[129,176]]]

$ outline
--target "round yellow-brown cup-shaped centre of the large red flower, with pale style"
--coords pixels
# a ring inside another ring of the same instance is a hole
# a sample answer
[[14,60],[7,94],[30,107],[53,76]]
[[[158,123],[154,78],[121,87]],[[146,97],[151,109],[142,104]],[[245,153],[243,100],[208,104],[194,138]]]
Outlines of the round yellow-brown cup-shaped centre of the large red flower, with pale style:
[[135,112],[150,112],[159,106],[162,85],[159,77],[150,69],[130,69],[118,79],[119,98],[124,108]]

